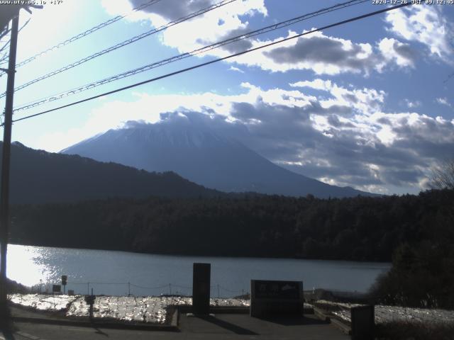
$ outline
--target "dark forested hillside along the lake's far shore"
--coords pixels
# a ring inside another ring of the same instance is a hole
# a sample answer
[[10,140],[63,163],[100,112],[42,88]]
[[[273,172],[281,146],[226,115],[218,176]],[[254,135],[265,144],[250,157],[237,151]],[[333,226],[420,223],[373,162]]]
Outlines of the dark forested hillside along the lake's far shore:
[[454,191],[419,196],[110,199],[13,208],[11,242],[161,254],[390,261],[450,233]]

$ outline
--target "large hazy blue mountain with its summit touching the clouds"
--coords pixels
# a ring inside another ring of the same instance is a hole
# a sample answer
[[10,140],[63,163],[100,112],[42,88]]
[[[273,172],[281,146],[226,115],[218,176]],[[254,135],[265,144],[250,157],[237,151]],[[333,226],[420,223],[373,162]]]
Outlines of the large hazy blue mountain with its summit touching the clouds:
[[319,198],[371,195],[295,174],[240,142],[184,118],[156,124],[130,123],[62,152],[148,171],[175,171],[190,181],[226,192],[311,193]]

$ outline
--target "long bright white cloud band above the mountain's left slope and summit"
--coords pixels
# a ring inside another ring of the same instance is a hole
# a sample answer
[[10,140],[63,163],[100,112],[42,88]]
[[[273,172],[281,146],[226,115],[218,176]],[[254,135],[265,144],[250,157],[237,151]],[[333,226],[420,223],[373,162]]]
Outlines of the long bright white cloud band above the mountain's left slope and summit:
[[[230,113],[233,103],[255,103],[260,97],[262,90],[248,83],[242,84],[245,94],[234,96],[221,96],[210,92],[202,94],[165,94],[149,95],[135,93],[136,101],[99,101],[99,108],[92,111],[89,119],[82,127],[72,128],[65,132],[55,132],[43,135],[38,140],[38,147],[50,152],[58,152],[70,145],[93,135],[106,132],[109,129],[122,127],[130,120],[144,120],[155,123],[160,120],[160,113],[179,110],[196,112],[216,112],[223,115],[227,120],[236,120]],[[293,94],[292,99],[284,100],[283,93]],[[270,105],[309,105],[309,100],[315,98],[301,96],[298,91],[284,91],[274,89],[267,91],[265,103]],[[58,142],[56,142],[58,141]]]

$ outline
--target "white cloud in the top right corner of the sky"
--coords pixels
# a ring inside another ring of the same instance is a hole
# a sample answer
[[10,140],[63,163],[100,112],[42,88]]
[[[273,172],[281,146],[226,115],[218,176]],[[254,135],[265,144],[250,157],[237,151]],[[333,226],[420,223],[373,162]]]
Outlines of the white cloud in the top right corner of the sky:
[[421,42],[431,55],[452,64],[453,47],[449,37],[453,31],[443,18],[441,7],[420,5],[389,11],[386,21],[390,33],[408,41]]

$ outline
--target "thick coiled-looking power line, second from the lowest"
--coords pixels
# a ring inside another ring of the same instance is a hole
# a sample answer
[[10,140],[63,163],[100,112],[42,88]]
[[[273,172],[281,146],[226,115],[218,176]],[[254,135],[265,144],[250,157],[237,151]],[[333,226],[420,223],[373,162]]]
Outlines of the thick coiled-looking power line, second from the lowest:
[[37,101],[33,101],[33,102],[30,102],[30,103],[23,104],[23,106],[21,106],[19,108],[16,108],[14,110],[14,112],[28,110],[29,108],[34,108],[36,106],[41,106],[41,105],[43,105],[45,103],[49,103],[50,101],[56,101],[58,99],[65,98],[67,96],[72,96],[74,94],[78,94],[80,92],[87,91],[89,89],[94,89],[97,86],[108,84],[108,83],[110,83],[112,81],[117,81],[119,79],[123,79],[123,78],[126,78],[126,77],[133,76],[135,74],[139,74],[139,73],[142,73],[142,72],[145,72],[145,71],[149,71],[150,69],[155,69],[157,67],[162,67],[165,64],[170,64],[172,62],[177,62],[178,60],[183,60],[183,59],[186,59],[188,57],[192,57],[194,55],[200,55],[202,53],[209,52],[209,51],[214,50],[214,49],[216,49],[218,47],[222,47],[224,45],[228,45],[228,44],[231,44],[233,42],[237,42],[237,41],[244,40],[244,39],[247,39],[247,38],[252,38],[252,37],[255,37],[256,35],[261,35],[263,33],[268,33],[268,32],[270,32],[272,30],[277,30],[279,28],[284,28],[284,27],[293,25],[294,23],[299,23],[300,21],[304,21],[304,20],[307,20],[309,18],[314,18],[315,16],[321,16],[322,14],[326,14],[326,13],[329,13],[331,11],[337,11],[337,10],[339,10],[341,8],[362,4],[362,3],[366,2],[366,1],[369,1],[369,0],[350,0],[350,1],[347,1],[347,2],[342,3],[342,4],[336,4],[336,5],[330,6],[328,8],[322,8],[319,11],[307,13],[307,14],[304,14],[303,16],[297,16],[296,18],[292,18],[292,19],[289,19],[287,21],[282,21],[280,23],[275,23],[273,25],[266,26],[266,27],[260,28],[258,30],[253,30],[253,31],[251,31],[249,33],[245,33],[243,35],[237,35],[237,36],[235,36],[233,38],[228,38],[228,39],[222,40],[220,42],[215,42],[214,44],[211,44],[211,45],[200,47],[200,48],[198,48],[196,50],[192,50],[191,52],[182,53],[181,55],[176,55],[176,56],[167,58],[165,60],[160,60],[159,62],[153,62],[153,63],[145,65],[143,67],[138,67],[136,69],[131,69],[131,70],[123,72],[121,74],[116,74],[114,76],[111,76],[111,77],[108,77],[108,78],[105,78],[105,79],[101,79],[99,81],[94,81],[92,83],[85,84],[83,86],[79,86],[77,88],[61,92],[59,94],[55,94],[55,95],[52,95],[52,96],[48,96],[48,97],[45,97],[45,98],[38,99]]

